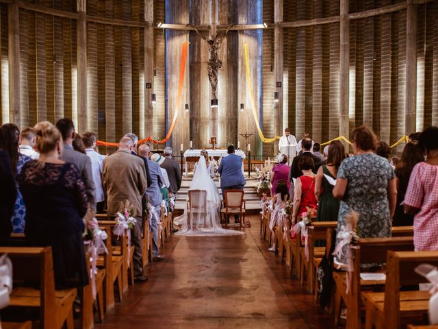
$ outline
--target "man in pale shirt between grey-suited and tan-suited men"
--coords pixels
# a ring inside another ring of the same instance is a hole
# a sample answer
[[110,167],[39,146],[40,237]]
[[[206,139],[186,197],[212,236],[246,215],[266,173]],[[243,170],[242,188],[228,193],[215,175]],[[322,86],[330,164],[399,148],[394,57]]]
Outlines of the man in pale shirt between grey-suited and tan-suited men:
[[85,146],[86,155],[91,160],[91,171],[94,182],[94,202],[96,202],[96,211],[103,212],[105,209],[105,194],[102,187],[102,170],[103,159],[105,156],[95,151],[96,149],[96,134],[94,132],[86,132],[82,135],[82,142]]

